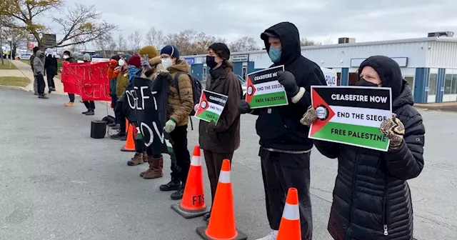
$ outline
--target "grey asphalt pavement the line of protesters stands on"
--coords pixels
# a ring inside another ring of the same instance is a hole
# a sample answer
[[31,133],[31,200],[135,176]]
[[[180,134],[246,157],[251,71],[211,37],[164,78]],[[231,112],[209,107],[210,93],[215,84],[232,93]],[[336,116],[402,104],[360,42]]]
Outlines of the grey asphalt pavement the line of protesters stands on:
[[[0,89],[0,239],[170,240],[199,239],[200,218],[186,220],[170,209],[164,178],[141,179],[146,165],[127,166],[132,153],[124,142],[91,139],[91,120],[76,99],[51,95],[37,99],[24,91]],[[111,112],[111,109],[109,109]],[[409,181],[418,240],[453,240],[457,236],[457,114],[422,111],[426,125],[426,167]],[[237,227],[257,239],[268,233],[254,116],[242,117],[242,143],[233,158],[233,194]],[[196,125],[196,121],[194,121]],[[197,144],[189,128],[189,149]],[[311,154],[314,237],[331,240],[326,231],[336,161]],[[204,177],[206,194],[209,181]]]

